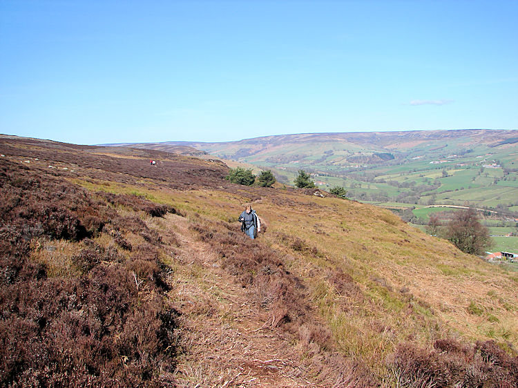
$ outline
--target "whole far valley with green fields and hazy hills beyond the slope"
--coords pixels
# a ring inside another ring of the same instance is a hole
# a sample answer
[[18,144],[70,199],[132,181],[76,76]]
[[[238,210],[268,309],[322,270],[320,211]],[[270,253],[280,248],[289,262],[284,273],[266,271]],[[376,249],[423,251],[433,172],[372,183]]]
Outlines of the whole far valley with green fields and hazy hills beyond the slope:
[[[492,249],[518,252],[517,130],[314,133],[131,146],[171,151],[180,145],[270,169],[284,184],[293,184],[303,169],[318,187],[343,186],[350,198],[390,208],[416,226],[438,211],[447,222],[452,206],[489,210],[479,216],[495,235]],[[509,233],[514,236],[504,237]]]

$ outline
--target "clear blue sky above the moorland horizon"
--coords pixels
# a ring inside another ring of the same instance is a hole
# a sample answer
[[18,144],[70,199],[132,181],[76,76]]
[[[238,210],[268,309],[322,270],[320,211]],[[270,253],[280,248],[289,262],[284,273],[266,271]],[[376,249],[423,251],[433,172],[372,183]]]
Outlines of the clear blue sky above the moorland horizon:
[[518,128],[518,1],[0,0],[0,133]]

